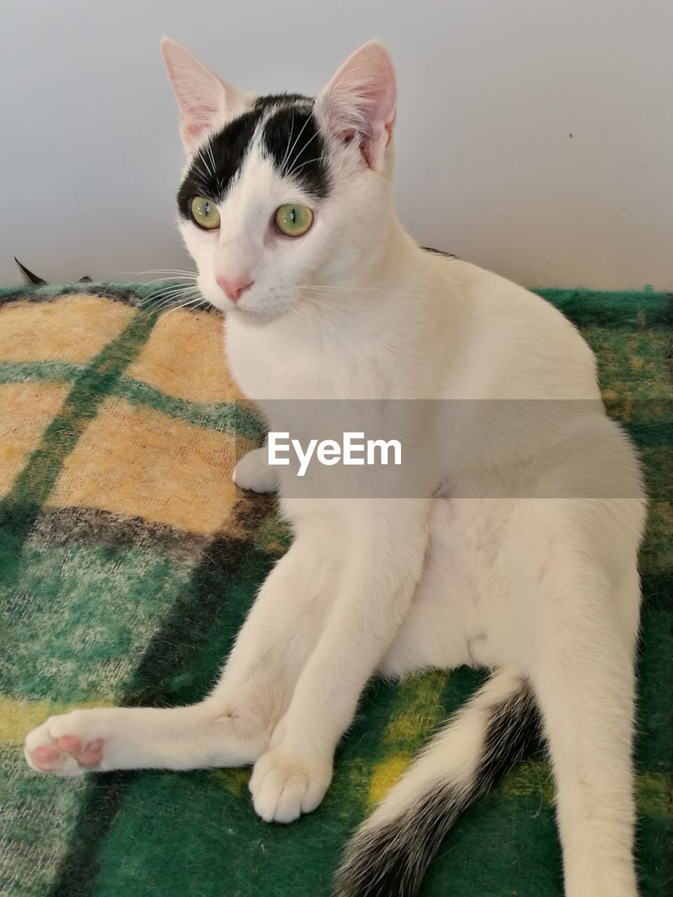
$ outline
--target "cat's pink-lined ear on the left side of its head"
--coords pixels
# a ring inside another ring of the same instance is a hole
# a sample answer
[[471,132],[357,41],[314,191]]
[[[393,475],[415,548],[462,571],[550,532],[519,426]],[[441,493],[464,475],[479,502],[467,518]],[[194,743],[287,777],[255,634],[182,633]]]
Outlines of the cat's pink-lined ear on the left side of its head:
[[245,108],[246,96],[170,38],[162,38],[162,57],[178,100],[182,144],[192,153],[211,128]]

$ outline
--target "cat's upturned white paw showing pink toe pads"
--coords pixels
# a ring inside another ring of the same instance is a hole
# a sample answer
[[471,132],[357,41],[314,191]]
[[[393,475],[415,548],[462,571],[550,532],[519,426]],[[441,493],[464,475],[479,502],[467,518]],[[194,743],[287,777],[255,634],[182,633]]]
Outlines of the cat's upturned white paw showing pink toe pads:
[[104,740],[91,731],[87,714],[73,710],[33,729],[24,745],[26,760],[34,770],[57,776],[81,776],[101,767]]

